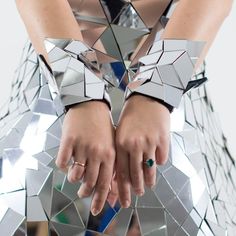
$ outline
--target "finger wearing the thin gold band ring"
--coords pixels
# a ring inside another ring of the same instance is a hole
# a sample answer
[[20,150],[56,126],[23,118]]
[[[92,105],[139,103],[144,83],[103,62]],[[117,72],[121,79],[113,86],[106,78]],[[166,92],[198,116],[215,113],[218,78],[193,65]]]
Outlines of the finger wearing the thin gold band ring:
[[[86,158],[85,158],[85,152],[82,147],[77,147],[74,151],[74,157],[73,157],[75,163],[81,163],[86,165]],[[68,181],[71,183],[75,183],[79,181],[85,172],[85,168],[78,164],[73,164],[70,166],[68,171]]]

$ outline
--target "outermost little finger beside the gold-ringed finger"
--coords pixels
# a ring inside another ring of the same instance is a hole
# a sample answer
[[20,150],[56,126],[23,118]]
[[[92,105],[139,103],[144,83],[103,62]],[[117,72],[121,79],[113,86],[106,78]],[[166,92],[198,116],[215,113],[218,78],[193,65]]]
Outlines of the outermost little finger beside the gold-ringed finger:
[[60,169],[66,169],[73,153],[73,141],[70,138],[61,138],[56,165]]

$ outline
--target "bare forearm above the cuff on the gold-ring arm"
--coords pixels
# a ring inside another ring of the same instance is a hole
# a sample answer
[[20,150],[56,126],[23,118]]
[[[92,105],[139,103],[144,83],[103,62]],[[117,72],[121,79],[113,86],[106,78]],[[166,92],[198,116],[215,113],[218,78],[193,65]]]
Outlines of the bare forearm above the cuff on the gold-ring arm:
[[66,0],[16,0],[16,4],[35,50],[46,59],[46,37],[82,39]]

